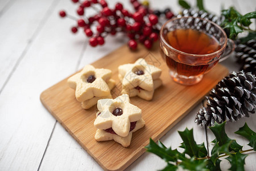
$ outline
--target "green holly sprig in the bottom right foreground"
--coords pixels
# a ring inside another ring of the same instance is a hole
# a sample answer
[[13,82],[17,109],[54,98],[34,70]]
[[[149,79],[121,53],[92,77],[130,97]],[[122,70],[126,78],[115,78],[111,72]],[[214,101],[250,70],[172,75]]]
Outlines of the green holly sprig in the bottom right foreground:
[[249,140],[249,146],[252,149],[242,150],[243,146],[239,145],[235,140],[230,139],[225,132],[225,124],[215,123],[214,127],[209,127],[213,132],[216,139],[212,141],[214,143],[211,155],[208,155],[208,150],[205,148],[205,144],[196,144],[193,136],[193,129],[186,128],[184,131],[178,133],[183,140],[180,148],[184,148],[184,152],[179,152],[177,149],[167,148],[160,141],[158,144],[152,139],[149,141],[149,145],[145,146],[147,152],[156,154],[167,165],[162,170],[177,170],[178,167],[188,170],[221,170],[220,163],[221,157],[226,157],[231,164],[229,170],[245,170],[245,158],[247,154],[243,154],[249,151],[256,151],[256,133],[252,131],[245,123],[243,127],[239,128],[238,135],[245,137]]

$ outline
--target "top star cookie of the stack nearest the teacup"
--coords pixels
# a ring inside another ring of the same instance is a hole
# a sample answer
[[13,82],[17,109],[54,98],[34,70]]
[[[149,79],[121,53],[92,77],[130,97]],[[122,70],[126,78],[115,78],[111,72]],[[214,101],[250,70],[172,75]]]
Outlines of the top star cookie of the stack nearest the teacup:
[[123,87],[132,89],[139,86],[146,91],[154,90],[153,80],[161,75],[159,68],[148,64],[143,58],[133,64],[123,64],[118,67],[118,70]]

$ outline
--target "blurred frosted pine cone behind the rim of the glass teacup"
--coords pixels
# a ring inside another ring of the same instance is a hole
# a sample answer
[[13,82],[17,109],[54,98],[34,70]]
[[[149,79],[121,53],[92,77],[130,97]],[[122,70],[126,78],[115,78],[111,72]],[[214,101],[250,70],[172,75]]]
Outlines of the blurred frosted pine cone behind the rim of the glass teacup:
[[211,14],[211,13],[206,13],[203,10],[195,10],[195,9],[184,9],[181,14],[177,15],[177,17],[199,17],[199,18],[205,18],[208,19],[217,25],[221,25],[221,23],[224,21],[225,17],[221,15],[218,17],[217,15]]

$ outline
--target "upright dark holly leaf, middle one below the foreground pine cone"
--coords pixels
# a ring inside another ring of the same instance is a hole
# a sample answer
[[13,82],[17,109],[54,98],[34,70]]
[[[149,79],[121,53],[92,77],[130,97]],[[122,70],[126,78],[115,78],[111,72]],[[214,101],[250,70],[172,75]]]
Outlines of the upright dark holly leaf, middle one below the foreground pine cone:
[[[225,124],[226,124],[226,121],[221,124],[215,123],[213,127],[209,127],[210,130],[213,132],[214,136],[216,137],[216,143],[219,146],[222,146],[222,145],[227,144],[230,141],[232,141],[226,135]],[[239,150],[242,150],[242,148],[243,148],[243,146],[237,144],[237,142],[235,140],[233,140],[232,143],[230,144],[230,150],[234,150],[234,152],[238,152]]]

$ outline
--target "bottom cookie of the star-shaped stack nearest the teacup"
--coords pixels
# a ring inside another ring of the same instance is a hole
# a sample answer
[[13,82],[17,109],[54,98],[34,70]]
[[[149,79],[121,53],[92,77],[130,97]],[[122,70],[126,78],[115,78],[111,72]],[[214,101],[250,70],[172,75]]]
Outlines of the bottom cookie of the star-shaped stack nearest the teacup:
[[[154,89],[160,87],[162,85],[161,79],[153,80]],[[154,91],[146,91],[145,89],[142,89],[140,87],[136,88],[125,88],[121,91],[122,94],[128,94],[129,97],[139,96],[141,99],[145,100],[151,100],[153,98]]]

